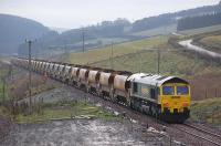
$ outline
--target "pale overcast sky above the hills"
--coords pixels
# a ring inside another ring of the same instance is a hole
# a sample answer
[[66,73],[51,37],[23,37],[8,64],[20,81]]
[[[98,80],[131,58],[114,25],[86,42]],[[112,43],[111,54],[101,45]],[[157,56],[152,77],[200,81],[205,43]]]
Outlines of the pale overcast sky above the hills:
[[0,13],[36,20],[46,27],[78,28],[103,20],[135,21],[165,12],[215,4],[220,0],[0,0]]

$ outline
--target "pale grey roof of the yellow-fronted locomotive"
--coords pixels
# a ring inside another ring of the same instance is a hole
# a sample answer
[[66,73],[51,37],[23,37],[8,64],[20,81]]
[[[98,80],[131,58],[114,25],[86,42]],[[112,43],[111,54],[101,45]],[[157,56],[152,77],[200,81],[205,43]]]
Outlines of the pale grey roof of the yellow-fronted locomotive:
[[187,81],[176,77],[176,76],[166,76],[159,74],[145,74],[145,73],[136,73],[128,77],[128,81],[149,84],[155,86],[160,86],[165,83],[186,83],[189,84]]

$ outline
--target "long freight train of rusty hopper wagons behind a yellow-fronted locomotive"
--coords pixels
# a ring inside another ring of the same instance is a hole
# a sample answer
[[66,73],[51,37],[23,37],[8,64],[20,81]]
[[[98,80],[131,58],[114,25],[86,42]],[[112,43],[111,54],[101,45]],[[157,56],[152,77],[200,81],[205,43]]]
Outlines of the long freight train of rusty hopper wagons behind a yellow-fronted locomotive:
[[[12,64],[29,69],[29,60]],[[180,77],[31,60],[31,70],[168,123],[190,116],[190,84]]]

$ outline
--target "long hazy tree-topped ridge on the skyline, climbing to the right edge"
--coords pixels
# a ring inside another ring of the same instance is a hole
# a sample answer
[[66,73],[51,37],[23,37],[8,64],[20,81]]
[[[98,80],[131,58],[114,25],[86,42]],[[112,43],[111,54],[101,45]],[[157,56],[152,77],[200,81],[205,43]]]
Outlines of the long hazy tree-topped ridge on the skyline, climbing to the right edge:
[[[85,39],[85,48],[92,49],[96,46],[110,44],[112,41],[123,42],[123,41],[141,39],[144,38],[143,35],[134,35],[134,34],[168,25],[173,25],[173,28],[176,28],[178,21],[182,18],[211,14],[214,12],[221,12],[221,3],[183,10],[175,13],[165,13],[156,17],[144,18],[134,23],[130,23],[126,19],[117,19],[115,21],[104,21],[95,25],[85,27],[84,29],[78,28],[78,29],[67,30],[60,34],[55,31],[49,32],[49,30],[45,27],[39,24],[39,27],[42,28],[43,31],[38,31],[38,32],[42,32],[41,34],[43,34],[43,36],[40,38],[39,41],[33,44],[33,55],[42,56],[42,54],[49,54],[49,53],[51,54],[56,52],[61,53],[64,52],[64,50],[65,51],[80,50],[82,49],[83,32]],[[17,25],[14,25],[14,29],[17,29]],[[176,31],[176,29],[170,31],[173,32]],[[30,29],[30,33],[31,32],[35,32],[34,29]],[[157,34],[159,33],[155,33],[152,35]],[[22,42],[24,39],[25,38],[22,38],[20,39],[20,41]],[[20,45],[19,48],[20,54],[23,55],[27,54],[27,51],[24,49],[25,46],[27,45],[24,44]]]

